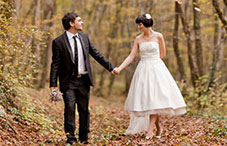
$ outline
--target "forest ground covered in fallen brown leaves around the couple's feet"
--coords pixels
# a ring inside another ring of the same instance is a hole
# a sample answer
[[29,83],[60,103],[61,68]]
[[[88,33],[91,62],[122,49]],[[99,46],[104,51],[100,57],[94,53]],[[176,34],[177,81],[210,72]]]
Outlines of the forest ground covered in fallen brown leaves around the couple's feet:
[[[63,146],[66,137],[63,128],[64,103],[50,103],[47,91],[31,92],[39,112],[50,119],[49,130],[26,120],[18,121],[14,115],[7,120],[0,118],[0,146]],[[38,101],[38,102],[37,102]],[[104,99],[91,96],[90,101],[90,146],[197,146],[227,145],[226,119],[182,115],[161,117],[164,131],[161,139],[145,140],[144,133],[124,135],[129,124],[129,115],[123,110],[124,97]],[[38,119],[37,119],[38,120]],[[78,135],[78,114],[76,115],[76,136]],[[44,125],[45,126],[45,125]],[[48,125],[46,125],[48,127]],[[51,128],[50,128],[51,127]],[[223,133],[224,131],[224,133]],[[81,145],[81,144],[75,144]]]

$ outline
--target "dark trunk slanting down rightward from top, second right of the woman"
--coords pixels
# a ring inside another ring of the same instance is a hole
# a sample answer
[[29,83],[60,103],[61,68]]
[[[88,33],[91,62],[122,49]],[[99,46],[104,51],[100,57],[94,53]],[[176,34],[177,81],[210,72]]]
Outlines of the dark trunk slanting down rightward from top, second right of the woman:
[[192,80],[192,84],[195,87],[195,81],[198,79],[198,68],[196,66],[194,57],[193,57],[193,52],[192,52],[192,40],[191,40],[191,32],[190,32],[190,28],[187,22],[187,19],[184,17],[183,11],[182,11],[182,6],[181,3],[179,3],[179,1],[176,1],[179,9],[178,9],[178,13],[180,14],[181,17],[181,22],[183,25],[183,30],[187,39],[187,46],[188,46],[188,61],[189,61],[189,67],[191,70],[191,80]]

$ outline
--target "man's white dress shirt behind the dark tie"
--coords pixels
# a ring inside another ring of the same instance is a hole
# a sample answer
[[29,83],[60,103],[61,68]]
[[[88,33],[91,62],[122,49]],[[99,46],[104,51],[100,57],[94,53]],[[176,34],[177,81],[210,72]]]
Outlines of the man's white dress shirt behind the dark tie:
[[70,43],[70,46],[71,46],[71,49],[72,49],[74,60],[75,60],[75,42],[74,42],[73,36],[76,36],[76,43],[77,43],[77,50],[78,50],[78,73],[79,74],[86,74],[87,71],[85,69],[83,49],[82,49],[82,45],[81,45],[81,42],[80,42],[80,39],[79,39],[79,35],[78,35],[78,33],[76,33],[74,35],[69,31],[66,31],[66,34],[67,34],[68,39],[69,39],[69,43]]

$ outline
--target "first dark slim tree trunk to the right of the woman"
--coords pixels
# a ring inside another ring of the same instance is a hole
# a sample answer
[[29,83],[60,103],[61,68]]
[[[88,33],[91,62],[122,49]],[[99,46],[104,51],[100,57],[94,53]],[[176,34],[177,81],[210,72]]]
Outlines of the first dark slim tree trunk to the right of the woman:
[[184,70],[184,64],[182,61],[182,57],[178,48],[178,28],[179,28],[179,14],[178,14],[178,5],[175,2],[175,24],[174,24],[174,31],[173,31],[173,48],[174,48],[174,53],[176,55],[177,59],[177,65],[178,69],[180,72],[180,80],[183,82],[186,81],[186,76],[185,76],[185,70]]

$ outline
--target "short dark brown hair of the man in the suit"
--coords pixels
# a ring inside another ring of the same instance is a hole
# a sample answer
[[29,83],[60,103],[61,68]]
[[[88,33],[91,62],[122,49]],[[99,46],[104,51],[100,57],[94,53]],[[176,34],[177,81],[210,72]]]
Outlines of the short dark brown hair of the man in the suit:
[[69,22],[74,22],[76,17],[79,17],[79,15],[74,12],[68,12],[64,15],[64,17],[62,18],[62,25],[65,30],[70,29],[71,26]]

